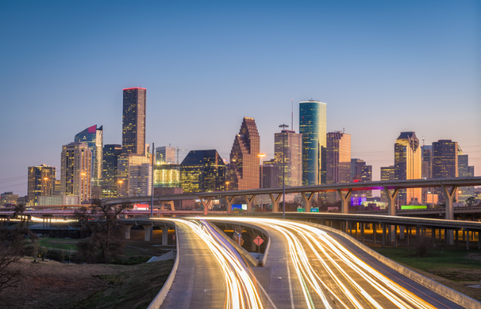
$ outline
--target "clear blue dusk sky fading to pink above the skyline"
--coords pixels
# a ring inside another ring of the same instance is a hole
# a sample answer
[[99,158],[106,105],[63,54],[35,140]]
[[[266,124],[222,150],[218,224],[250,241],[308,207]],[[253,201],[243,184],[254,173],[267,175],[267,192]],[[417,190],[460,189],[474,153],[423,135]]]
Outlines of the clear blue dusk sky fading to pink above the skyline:
[[89,126],[122,144],[128,87],[147,89],[155,146],[228,159],[254,117],[271,159],[291,99],[298,132],[313,98],[373,180],[401,131],[458,141],[481,176],[481,1],[159,2],[0,2],[1,192],[26,195],[41,163],[60,179],[62,146]]

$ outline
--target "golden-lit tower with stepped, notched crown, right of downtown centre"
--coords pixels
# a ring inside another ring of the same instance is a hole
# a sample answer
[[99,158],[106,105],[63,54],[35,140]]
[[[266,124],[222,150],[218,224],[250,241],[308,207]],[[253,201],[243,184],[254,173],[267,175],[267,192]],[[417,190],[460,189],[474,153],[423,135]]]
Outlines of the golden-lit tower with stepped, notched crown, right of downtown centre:
[[[394,144],[394,167],[396,180],[421,179],[421,147],[415,132],[401,132]],[[421,188],[399,191],[399,200],[406,205],[422,203]]]

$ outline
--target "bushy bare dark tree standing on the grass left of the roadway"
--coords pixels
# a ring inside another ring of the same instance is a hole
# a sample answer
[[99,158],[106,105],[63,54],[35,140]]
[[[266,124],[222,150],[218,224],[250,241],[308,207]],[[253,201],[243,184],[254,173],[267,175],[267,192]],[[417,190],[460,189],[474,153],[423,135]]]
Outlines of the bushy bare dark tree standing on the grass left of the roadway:
[[107,205],[102,204],[99,199],[94,199],[90,210],[82,207],[76,211],[82,232],[91,233],[88,240],[77,244],[78,250],[87,261],[106,263],[110,258],[116,258],[122,253],[125,247],[124,225],[118,224],[117,217],[123,211],[132,208],[133,204],[130,201],[119,205]]

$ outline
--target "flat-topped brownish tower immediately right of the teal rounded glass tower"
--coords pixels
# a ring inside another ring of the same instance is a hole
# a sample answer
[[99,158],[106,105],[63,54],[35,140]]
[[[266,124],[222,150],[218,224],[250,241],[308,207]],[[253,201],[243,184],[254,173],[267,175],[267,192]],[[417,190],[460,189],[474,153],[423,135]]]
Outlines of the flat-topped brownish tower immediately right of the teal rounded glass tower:
[[[350,182],[350,134],[330,132],[326,136],[326,183]],[[337,201],[337,192],[327,193],[328,201]]]

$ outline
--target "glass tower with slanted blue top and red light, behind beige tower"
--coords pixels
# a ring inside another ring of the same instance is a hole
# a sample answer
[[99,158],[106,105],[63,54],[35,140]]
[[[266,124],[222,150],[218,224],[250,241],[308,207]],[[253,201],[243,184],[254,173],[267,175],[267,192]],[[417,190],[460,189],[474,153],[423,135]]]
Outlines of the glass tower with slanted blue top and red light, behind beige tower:
[[75,135],[74,141],[89,146],[92,153],[92,186],[102,185],[102,147],[104,146],[103,126],[97,125],[86,128]]

